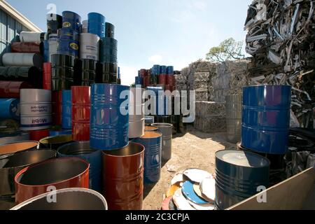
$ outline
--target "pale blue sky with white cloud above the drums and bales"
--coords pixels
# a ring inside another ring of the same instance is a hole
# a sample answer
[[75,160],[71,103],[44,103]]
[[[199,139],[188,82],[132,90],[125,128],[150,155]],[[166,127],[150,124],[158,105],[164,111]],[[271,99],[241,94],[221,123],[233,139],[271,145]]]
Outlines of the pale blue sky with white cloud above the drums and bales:
[[116,26],[123,84],[141,68],[174,65],[181,70],[226,38],[244,41],[244,23],[252,0],[7,0],[43,31],[49,3],[57,13],[72,10],[84,19],[102,13]]

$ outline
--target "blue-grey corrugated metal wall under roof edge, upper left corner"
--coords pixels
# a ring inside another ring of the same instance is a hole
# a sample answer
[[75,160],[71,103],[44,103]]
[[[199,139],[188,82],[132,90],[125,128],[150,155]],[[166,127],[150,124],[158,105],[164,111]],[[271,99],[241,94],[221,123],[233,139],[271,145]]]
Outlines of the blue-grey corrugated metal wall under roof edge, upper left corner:
[[2,55],[10,51],[10,43],[16,40],[21,31],[29,31],[29,29],[0,9],[0,66],[2,66]]

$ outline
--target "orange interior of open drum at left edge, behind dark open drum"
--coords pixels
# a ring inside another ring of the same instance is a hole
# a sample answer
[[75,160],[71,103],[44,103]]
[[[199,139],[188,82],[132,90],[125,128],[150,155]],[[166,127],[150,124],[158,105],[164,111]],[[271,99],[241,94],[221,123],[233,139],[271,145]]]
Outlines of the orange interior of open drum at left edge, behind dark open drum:
[[0,146],[0,158],[3,158],[3,155],[34,150],[38,148],[38,144],[38,141],[19,141],[11,144],[4,144]]

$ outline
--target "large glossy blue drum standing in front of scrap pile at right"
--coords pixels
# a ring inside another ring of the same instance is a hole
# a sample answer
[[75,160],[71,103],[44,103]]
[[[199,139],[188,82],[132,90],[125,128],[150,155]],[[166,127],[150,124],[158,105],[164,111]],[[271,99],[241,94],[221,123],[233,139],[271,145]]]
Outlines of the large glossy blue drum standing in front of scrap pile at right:
[[258,153],[286,154],[290,128],[291,87],[244,87],[241,146]]

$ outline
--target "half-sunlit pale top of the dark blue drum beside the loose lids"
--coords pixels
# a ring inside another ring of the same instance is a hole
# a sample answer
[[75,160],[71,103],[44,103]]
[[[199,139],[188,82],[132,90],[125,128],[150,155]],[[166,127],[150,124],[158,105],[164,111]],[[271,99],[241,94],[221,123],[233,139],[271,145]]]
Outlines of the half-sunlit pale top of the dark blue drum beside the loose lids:
[[216,158],[239,167],[260,168],[269,167],[270,165],[269,160],[266,158],[263,158],[255,153],[245,151],[218,151],[216,153]]

